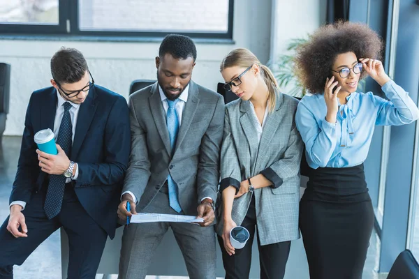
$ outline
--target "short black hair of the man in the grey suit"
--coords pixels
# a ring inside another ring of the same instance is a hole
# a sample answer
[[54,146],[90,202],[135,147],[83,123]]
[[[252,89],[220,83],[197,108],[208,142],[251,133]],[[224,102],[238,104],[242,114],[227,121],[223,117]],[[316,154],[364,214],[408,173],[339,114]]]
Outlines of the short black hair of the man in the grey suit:
[[193,40],[187,36],[170,34],[164,37],[159,48],[159,57],[170,54],[175,59],[192,57],[196,61],[196,47]]

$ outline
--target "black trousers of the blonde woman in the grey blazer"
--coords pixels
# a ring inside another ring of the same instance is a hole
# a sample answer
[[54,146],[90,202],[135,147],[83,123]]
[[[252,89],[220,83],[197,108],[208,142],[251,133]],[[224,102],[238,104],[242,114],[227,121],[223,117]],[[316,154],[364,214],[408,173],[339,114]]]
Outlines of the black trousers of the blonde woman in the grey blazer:
[[[228,255],[224,248],[223,239],[218,236],[218,241],[223,254],[223,266],[226,270],[226,279],[245,279],[249,278],[251,264],[251,247],[253,236],[256,232],[256,209],[254,195],[243,220],[242,227],[245,227],[250,237],[242,249],[236,249],[235,255]],[[284,278],[285,266],[290,254],[291,241],[260,245],[258,236],[260,278],[261,279],[280,279]]]

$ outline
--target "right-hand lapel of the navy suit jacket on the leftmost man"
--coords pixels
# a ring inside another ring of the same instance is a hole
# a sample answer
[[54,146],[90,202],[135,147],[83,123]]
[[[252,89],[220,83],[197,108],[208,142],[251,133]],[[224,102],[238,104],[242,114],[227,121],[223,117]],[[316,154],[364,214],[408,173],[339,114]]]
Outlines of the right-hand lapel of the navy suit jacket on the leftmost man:
[[84,103],[80,105],[80,110],[78,113],[77,126],[75,126],[75,135],[73,140],[73,147],[71,148],[71,158],[75,160],[82,146],[84,137],[86,137],[87,130],[89,130],[91,121],[93,120],[94,114],[96,112],[96,91],[95,87],[92,86],[89,90],[89,95],[87,95]]

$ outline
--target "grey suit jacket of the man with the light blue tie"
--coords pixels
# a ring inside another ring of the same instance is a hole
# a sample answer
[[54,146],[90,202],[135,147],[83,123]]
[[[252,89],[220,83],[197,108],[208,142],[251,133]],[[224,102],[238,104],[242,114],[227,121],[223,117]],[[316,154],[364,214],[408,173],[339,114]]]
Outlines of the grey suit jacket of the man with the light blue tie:
[[131,156],[123,192],[129,190],[139,199],[137,211],[152,201],[169,172],[177,183],[179,203],[187,215],[196,215],[203,197],[215,201],[223,137],[222,96],[193,81],[189,83],[189,97],[173,153],[159,85],[155,83],[133,93],[128,106]]

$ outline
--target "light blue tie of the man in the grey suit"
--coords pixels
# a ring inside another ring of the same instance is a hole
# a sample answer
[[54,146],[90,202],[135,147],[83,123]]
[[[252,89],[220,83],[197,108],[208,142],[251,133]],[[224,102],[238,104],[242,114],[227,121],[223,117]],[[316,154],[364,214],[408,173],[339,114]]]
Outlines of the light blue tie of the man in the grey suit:
[[[170,138],[170,146],[172,147],[172,155],[175,150],[175,144],[176,144],[176,138],[177,138],[177,132],[179,131],[179,119],[177,118],[177,113],[175,110],[175,106],[177,104],[176,100],[169,100],[168,101],[168,114],[166,115],[166,125],[168,126],[168,132],[169,132],[169,138]],[[180,213],[182,211],[182,208],[179,204],[179,190],[177,189],[177,185],[175,181],[173,181],[172,176],[168,175],[168,188],[169,188],[169,204],[172,209],[174,209],[176,212]]]

